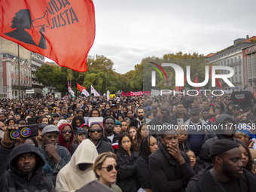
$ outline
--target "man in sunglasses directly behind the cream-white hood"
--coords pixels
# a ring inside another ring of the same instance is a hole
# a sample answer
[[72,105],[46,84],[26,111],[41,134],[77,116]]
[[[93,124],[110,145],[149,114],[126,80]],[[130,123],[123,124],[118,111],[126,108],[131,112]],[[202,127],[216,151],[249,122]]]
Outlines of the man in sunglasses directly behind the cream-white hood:
[[102,141],[103,129],[99,123],[93,123],[90,125],[87,131],[87,139],[90,139],[91,142],[96,147],[98,154],[102,154],[104,152],[114,152],[112,145],[109,142]]

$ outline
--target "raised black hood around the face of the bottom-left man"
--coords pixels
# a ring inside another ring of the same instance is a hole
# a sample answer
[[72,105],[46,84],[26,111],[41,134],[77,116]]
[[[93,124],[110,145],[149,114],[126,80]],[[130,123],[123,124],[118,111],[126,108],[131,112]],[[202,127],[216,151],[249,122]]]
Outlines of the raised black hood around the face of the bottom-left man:
[[17,170],[17,156],[19,156],[20,154],[28,154],[28,153],[35,154],[36,166],[35,166],[34,172],[36,172],[38,169],[41,169],[44,166],[44,159],[38,153],[38,149],[31,144],[22,144],[15,147],[14,151],[12,151],[11,153],[11,160],[10,160],[9,166],[12,171],[19,172]]

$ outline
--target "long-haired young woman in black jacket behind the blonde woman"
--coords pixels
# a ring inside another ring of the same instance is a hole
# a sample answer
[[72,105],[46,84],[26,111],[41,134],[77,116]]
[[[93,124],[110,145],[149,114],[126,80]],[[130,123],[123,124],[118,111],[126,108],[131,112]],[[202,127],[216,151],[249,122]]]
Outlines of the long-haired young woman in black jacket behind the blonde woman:
[[139,187],[139,179],[136,169],[138,154],[133,151],[133,139],[129,133],[122,133],[118,140],[117,164],[120,171],[117,174],[117,185],[123,192],[136,192]]

